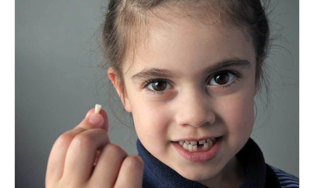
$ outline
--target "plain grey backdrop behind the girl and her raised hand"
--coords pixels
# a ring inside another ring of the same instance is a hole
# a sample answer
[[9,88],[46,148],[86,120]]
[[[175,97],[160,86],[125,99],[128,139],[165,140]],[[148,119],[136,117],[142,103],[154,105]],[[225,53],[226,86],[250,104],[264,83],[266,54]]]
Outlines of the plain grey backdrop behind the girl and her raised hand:
[[[102,5],[100,0],[15,1],[16,187],[44,187],[56,138],[76,126],[96,103],[106,104],[107,87],[96,86],[106,72],[96,68],[99,54],[90,52],[97,47],[92,36]],[[277,48],[268,58],[272,115],[263,116],[258,109],[262,116],[251,137],[268,164],[299,176],[299,1],[280,0],[273,18],[282,29],[277,44],[291,55]],[[107,81],[100,81],[100,86]],[[108,106],[103,108],[112,122]],[[129,154],[137,154],[132,129],[118,123],[110,137]]]

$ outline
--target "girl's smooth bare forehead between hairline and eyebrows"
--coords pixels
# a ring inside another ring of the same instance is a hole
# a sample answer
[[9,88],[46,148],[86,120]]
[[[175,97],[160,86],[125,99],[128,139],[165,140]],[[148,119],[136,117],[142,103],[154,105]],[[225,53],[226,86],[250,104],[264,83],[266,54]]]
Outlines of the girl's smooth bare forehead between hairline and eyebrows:
[[221,20],[204,24],[190,18],[174,18],[154,23],[149,27],[147,40],[138,45],[133,59],[127,60],[126,75],[149,68],[195,74],[232,58],[255,63],[255,50],[243,30],[224,25]]

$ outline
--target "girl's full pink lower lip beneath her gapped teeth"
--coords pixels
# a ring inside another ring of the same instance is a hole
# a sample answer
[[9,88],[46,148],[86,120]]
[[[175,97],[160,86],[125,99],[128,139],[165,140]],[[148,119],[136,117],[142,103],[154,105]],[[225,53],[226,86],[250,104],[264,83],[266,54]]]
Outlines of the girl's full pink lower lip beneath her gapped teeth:
[[212,149],[204,152],[188,152],[178,142],[172,143],[182,157],[191,162],[202,163],[213,159],[218,154],[222,144],[222,136],[217,138],[216,143]]

